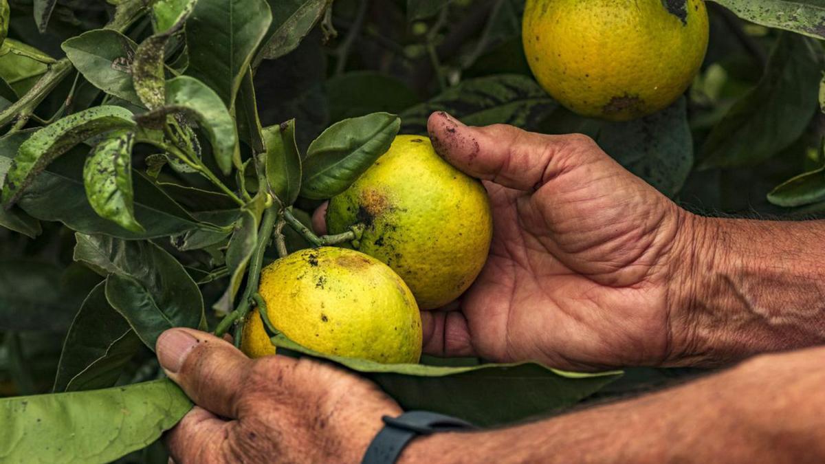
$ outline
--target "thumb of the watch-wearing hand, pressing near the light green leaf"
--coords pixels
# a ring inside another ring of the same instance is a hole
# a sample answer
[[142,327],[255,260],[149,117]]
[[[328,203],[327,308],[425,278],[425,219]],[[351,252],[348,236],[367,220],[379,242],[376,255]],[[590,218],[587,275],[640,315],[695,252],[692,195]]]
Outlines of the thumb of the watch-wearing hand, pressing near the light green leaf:
[[252,360],[223,339],[195,329],[168,329],[158,337],[158,361],[196,405],[238,419],[243,377]]

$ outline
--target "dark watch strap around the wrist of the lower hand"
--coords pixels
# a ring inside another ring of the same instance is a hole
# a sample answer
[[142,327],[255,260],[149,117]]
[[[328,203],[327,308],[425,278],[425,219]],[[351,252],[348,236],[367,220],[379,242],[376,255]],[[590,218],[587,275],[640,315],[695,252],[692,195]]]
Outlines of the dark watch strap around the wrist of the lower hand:
[[473,424],[444,414],[408,411],[398,417],[384,416],[384,428],[366,448],[361,464],[392,464],[413,438],[438,432],[475,428]]

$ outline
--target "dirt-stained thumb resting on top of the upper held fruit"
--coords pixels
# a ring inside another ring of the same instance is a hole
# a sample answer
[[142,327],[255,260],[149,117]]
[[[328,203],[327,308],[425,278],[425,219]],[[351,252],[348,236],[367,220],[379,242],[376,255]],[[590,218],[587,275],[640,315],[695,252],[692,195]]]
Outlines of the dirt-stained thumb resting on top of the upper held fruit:
[[535,134],[502,124],[472,127],[444,111],[431,114],[427,130],[438,154],[456,168],[524,191],[603,154],[585,135]]

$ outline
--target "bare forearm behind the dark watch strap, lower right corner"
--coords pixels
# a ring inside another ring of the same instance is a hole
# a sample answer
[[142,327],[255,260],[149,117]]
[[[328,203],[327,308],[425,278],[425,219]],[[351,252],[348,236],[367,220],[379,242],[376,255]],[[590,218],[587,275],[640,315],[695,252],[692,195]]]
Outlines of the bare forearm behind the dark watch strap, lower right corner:
[[533,424],[422,438],[402,462],[825,462],[816,351]]

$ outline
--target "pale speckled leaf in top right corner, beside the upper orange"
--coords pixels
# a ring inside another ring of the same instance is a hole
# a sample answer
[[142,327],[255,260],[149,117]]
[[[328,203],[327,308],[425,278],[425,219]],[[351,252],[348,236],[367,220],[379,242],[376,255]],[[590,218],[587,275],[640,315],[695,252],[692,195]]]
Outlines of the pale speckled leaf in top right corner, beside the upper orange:
[[712,0],[744,20],[825,39],[822,0]]

